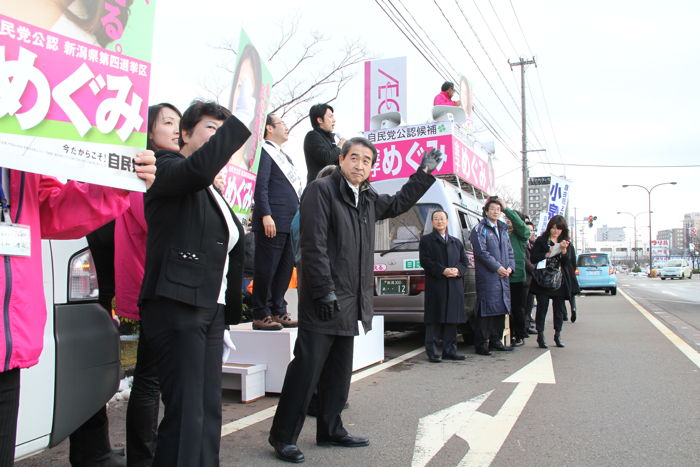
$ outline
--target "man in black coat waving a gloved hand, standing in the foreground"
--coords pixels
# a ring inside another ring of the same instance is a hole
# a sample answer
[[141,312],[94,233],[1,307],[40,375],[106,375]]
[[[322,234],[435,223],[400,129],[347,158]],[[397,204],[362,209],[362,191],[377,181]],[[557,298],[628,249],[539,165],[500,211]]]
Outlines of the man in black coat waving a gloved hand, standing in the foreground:
[[379,195],[367,182],[377,150],[365,138],[347,141],[340,167],[312,182],[301,199],[299,332],[270,429],[277,456],[302,462],[296,446],[309,400],[319,387],[316,443],[367,446],[351,436],[340,413],[352,374],[353,339],[372,327],[374,223],[401,214],[423,196],[442,154],[432,150],[394,196]]

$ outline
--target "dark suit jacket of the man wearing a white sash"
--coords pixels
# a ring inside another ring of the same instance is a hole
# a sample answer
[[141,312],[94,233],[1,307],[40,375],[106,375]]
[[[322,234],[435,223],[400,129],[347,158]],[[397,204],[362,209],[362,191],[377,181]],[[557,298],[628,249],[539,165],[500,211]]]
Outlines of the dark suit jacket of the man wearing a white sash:
[[263,216],[270,215],[277,232],[289,233],[292,218],[299,209],[299,195],[263,145],[255,179],[253,232],[264,232]]

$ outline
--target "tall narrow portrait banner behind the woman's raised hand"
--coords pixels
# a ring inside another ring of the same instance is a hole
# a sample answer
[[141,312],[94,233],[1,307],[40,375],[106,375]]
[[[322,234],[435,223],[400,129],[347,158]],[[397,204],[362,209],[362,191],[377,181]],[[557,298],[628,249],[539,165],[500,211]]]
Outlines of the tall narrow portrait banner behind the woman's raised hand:
[[265,133],[272,76],[245,31],[238,41],[238,60],[233,74],[230,109],[251,132],[250,138],[222,169],[222,193],[233,211],[248,215],[253,205],[255,175]]

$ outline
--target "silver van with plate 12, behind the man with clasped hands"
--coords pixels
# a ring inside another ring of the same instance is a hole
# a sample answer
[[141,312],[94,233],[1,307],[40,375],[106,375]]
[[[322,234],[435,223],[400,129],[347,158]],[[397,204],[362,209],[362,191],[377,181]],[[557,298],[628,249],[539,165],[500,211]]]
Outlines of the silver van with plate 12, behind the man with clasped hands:
[[[374,237],[374,312],[384,316],[386,329],[423,324],[425,273],[420,265],[420,237],[433,230],[430,216],[436,209],[448,213],[447,232],[464,244],[469,269],[464,275],[465,317],[472,321],[476,303],[474,253],[469,233],[481,220],[485,193],[454,175],[439,175],[437,182],[402,215],[377,222]],[[372,182],[380,194],[394,194],[405,178]],[[462,332],[468,337],[471,326]]]

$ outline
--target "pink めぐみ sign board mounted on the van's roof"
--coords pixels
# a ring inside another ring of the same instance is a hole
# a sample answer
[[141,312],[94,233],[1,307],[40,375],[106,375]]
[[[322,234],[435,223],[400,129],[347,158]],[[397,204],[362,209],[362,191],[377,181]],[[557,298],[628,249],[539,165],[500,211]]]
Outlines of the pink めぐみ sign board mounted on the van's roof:
[[494,190],[493,166],[486,150],[453,122],[433,122],[365,132],[377,147],[372,181],[409,177],[426,151],[445,155],[434,175],[455,174],[485,193]]

